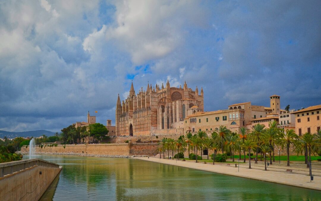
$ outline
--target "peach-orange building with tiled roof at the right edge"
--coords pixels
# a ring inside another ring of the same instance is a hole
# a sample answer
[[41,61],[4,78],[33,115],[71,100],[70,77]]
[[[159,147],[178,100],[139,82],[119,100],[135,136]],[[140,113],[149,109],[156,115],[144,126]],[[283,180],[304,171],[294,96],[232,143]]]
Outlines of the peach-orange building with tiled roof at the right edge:
[[302,134],[316,133],[320,130],[321,105],[310,106],[293,112],[295,115],[295,132],[301,136]]

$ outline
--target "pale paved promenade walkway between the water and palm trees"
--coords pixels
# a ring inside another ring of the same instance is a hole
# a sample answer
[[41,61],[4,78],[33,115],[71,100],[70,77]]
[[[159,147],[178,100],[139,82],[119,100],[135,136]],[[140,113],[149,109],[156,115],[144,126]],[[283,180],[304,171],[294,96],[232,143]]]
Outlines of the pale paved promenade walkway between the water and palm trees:
[[[192,168],[198,170],[204,170],[209,172],[215,172],[225,175],[256,179],[261,181],[268,181],[273,183],[285,184],[296,187],[304,187],[309,189],[315,189],[321,191],[321,170],[312,169],[314,180],[310,182],[310,176],[308,176],[308,168],[301,167],[286,167],[273,165],[269,166],[268,171],[264,171],[264,162],[254,164],[251,162],[252,169],[248,169],[248,163],[240,164],[239,171],[235,168],[233,163],[212,163],[204,164],[204,162],[195,163],[195,161],[182,161],[182,160],[168,160],[155,157],[135,158],[138,160],[146,160],[151,162],[163,163],[168,165],[175,165],[179,167]],[[275,162],[276,163],[276,162]],[[227,164],[230,164],[228,166]],[[262,165],[263,164],[263,165]],[[293,173],[285,173],[286,169],[293,169]]]

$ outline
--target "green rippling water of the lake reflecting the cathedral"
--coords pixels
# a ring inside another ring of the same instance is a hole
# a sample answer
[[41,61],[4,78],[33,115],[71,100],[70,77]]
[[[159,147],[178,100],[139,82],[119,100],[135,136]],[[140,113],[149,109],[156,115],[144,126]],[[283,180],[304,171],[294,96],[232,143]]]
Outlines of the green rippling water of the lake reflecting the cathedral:
[[321,192],[136,159],[43,155],[63,166],[42,200],[321,200]]

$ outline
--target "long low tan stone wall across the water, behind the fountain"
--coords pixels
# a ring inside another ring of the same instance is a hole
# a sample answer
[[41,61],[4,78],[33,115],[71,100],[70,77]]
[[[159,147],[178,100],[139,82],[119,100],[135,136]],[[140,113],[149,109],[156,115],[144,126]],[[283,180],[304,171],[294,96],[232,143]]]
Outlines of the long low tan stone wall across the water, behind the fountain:
[[[154,155],[157,154],[157,143],[117,143],[117,144],[78,144],[58,146],[36,146],[37,153],[84,153],[98,155]],[[26,146],[21,148],[23,152],[29,152]]]

